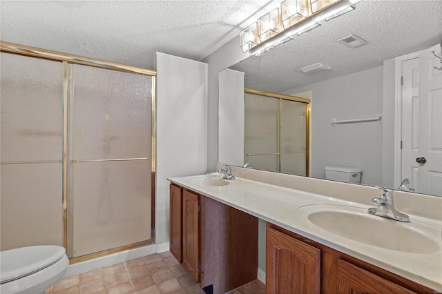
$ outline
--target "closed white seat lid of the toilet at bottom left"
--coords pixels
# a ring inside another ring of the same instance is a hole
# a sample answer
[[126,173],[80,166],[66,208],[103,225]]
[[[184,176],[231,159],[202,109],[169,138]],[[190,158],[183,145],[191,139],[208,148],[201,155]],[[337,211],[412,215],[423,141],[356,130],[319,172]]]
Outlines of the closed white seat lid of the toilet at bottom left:
[[58,262],[65,254],[61,246],[42,245],[0,252],[0,284],[17,280]]

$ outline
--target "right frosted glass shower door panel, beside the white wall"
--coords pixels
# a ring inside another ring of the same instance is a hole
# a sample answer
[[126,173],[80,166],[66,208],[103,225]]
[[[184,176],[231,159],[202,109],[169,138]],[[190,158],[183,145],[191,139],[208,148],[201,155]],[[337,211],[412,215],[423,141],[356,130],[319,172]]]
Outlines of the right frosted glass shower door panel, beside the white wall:
[[151,239],[152,78],[70,65],[68,255]]

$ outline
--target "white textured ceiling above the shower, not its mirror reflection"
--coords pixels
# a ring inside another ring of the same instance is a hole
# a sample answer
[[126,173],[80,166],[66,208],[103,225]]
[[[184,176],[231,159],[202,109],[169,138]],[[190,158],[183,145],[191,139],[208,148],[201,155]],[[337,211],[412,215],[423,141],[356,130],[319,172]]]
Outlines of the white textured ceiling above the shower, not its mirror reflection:
[[0,38],[154,68],[155,52],[203,59],[238,36],[268,3],[2,0]]

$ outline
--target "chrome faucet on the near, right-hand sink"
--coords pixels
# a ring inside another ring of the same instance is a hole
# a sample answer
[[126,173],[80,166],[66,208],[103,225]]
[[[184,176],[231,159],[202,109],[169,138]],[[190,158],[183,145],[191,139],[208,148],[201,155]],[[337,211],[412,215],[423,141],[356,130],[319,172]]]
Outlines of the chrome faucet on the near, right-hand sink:
[[393,190],[380,186],[376,186],[376,188],[381,190],[381,197],[373,198],[372,202],[378,204],[378,207],[368,208],[368,213],[371,215],[395,219],[400,222],[410,222],[408,215],[399,213],[398,210],[394,209]]

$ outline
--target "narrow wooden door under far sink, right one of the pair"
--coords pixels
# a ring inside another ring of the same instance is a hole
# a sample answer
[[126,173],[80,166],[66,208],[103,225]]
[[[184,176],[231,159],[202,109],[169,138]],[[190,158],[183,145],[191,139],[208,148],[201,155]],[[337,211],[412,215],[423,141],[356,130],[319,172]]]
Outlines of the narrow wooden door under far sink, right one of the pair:
[[182,197],[182,266],[198,282],[199,242],[198,195],[184,190]]

